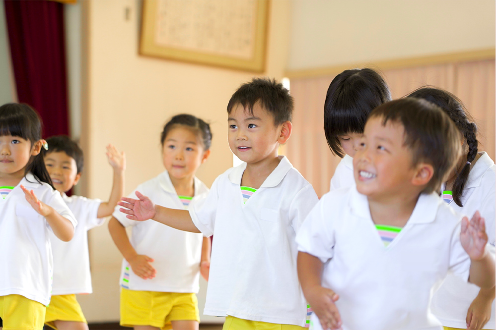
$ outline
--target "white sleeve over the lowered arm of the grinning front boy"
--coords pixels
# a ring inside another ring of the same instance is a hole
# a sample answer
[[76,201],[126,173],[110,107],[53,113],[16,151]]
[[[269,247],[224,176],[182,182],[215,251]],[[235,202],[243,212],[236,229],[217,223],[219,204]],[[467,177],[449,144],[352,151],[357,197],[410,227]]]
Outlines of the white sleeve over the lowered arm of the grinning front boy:
[[[329,201],[327,201],[329,202]],[[312,209],[296,235],[298,251],[311,254],[325,263],[334,256],[332,219],[325,217],[325,195]]]

